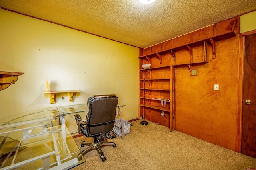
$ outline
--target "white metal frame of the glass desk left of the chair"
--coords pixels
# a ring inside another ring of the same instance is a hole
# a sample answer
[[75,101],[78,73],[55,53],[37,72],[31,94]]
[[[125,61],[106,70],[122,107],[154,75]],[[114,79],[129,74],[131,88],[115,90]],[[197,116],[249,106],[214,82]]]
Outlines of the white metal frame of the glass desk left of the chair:
[[[81,162],[83,163],[83,161],[85,162],[85,160],[82,160],[79,163],[77,157],[72,157],[66,143],[66,131],[62,131],[62,129],[65,129],[65,123],[60,124],[61,121],[59,121],[61,117],[62,116],[58,114],[57,107],[50,107],[20,113],[1,119],[0,136],[3,136],[3,140],[0,143],[0,149],[2,149],[6,139],[11,133],[17,133],[20,131],[22,132],[22,137],[18,140],[16,146],[9,152],[6,159],[2,162],[0,165],[0,170],[17,170],[19,166],[24,166],[36,160],[42,160],[42,168],[39,168],[39,170],[68,170],[77,166]],[[36,128],[37,130],[33,131]],[[42,128],[42,130],[40,130],[40,128]],[[58,135],[58,139],[55,137],[55,135]],[[29,141],[29,139],[35,140]],[[62,158],[60,156],[60,150],[58,149],[59,141],[57,143],[57,140],[59,139],[62,141],[61,144],[59,144],[62,145]],[[53,143],[52,147],[48,145],[49,142]],[[15,163],[20,147],[35,146],[38,144],[44,145],[49,149],[50,152],[41,155],[39,154],[39,156]],[[14,156],[12,157],[11,164],[4,167],[4,164],[12,154],[14,154]],[[52,155],[55,156],[56,162],[51,164],[50,156]],[[51,168],[51,166],[53,167]]]

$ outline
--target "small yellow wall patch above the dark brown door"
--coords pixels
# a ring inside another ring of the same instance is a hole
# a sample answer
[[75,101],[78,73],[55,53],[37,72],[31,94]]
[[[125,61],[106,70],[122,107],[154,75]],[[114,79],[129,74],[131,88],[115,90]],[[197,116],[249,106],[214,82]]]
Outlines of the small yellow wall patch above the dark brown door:
[[240,33],[256,29],[256,11],[240,16]]

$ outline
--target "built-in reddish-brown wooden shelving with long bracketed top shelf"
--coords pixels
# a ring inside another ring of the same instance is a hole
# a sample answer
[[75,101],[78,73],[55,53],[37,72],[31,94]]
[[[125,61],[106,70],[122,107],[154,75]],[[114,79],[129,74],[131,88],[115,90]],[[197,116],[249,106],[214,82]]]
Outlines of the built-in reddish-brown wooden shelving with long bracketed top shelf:
[[[216,32],[214,32],[212,34],[214,36],[202,38],[198,41],[193,41],[190,43],[186,43],[184,45],[172,47],[162,51],[158,51],[155,48],[154,53],[149,53],[146,55],[139,56],[138,57],[140,59],[139,119],[145,115],[145,117],[150,119],[151,121],[155,121],[156,123],[160,123],[165,126],[170,126],[170,131],[172,131],[172,123],[173,123],[172,111],[174,110],[173,108],[175,105],[175,101],[174,101],[175,96],[173,93],[174,69],[180,66],[188,66],[190,75],[197,76],[197,73],[196,73],[197,69],[193,69],[193,65],[208,63],[207,44],[210,43],[212,45],[212,58],[214,59],[216,55],[215,41],[236,37],[236,32],[234,30],[235,27],[236,27],[236,19],[234,20],[234,23],[232,23],[230,31],[227,31],[226,33],[220,33],[218,35],[214,35],[216,34]],[[190,39],[190,41],[192,40],[193,39]],[[174,41],[176,42],[176,39]],[[197,47],[201,45],[203,45],[202,59],[200,59],[201,61],[198,61],[198,59],[196,59],[196,61],[193,61],[193,47]],[[180,51],[184,49],[187,49],[189,51],[188,53],[189,56],[186,59],[190,57],[190,62],[186,60],[183,63],[183,61],[178,58],[179,57],[178,54],[180,53],[176,53],[176,51]],[[144,76],[145,76],[146,70],[142,68],[141,66],[142,64],[152,64],[153,66],[151,68],[148,68],[148,74],[146,75],[146,78],[145,78],[145,87],[144,87]],[[144,94],[145,94],[145,100],[144,100]],[[170,119],[170,123],[166,123],[166,122],[161,123],[163,120],[162,115],[166,116],[167,119]]]

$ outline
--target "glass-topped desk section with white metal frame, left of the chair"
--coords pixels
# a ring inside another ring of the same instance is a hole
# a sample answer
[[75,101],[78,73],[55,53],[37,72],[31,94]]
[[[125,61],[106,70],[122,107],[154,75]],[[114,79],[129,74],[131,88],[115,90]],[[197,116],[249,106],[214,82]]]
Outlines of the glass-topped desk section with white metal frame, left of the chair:
[[0,170],[67,170],[78,161],[79,148],[57,107],[28,111],[0,119]]

